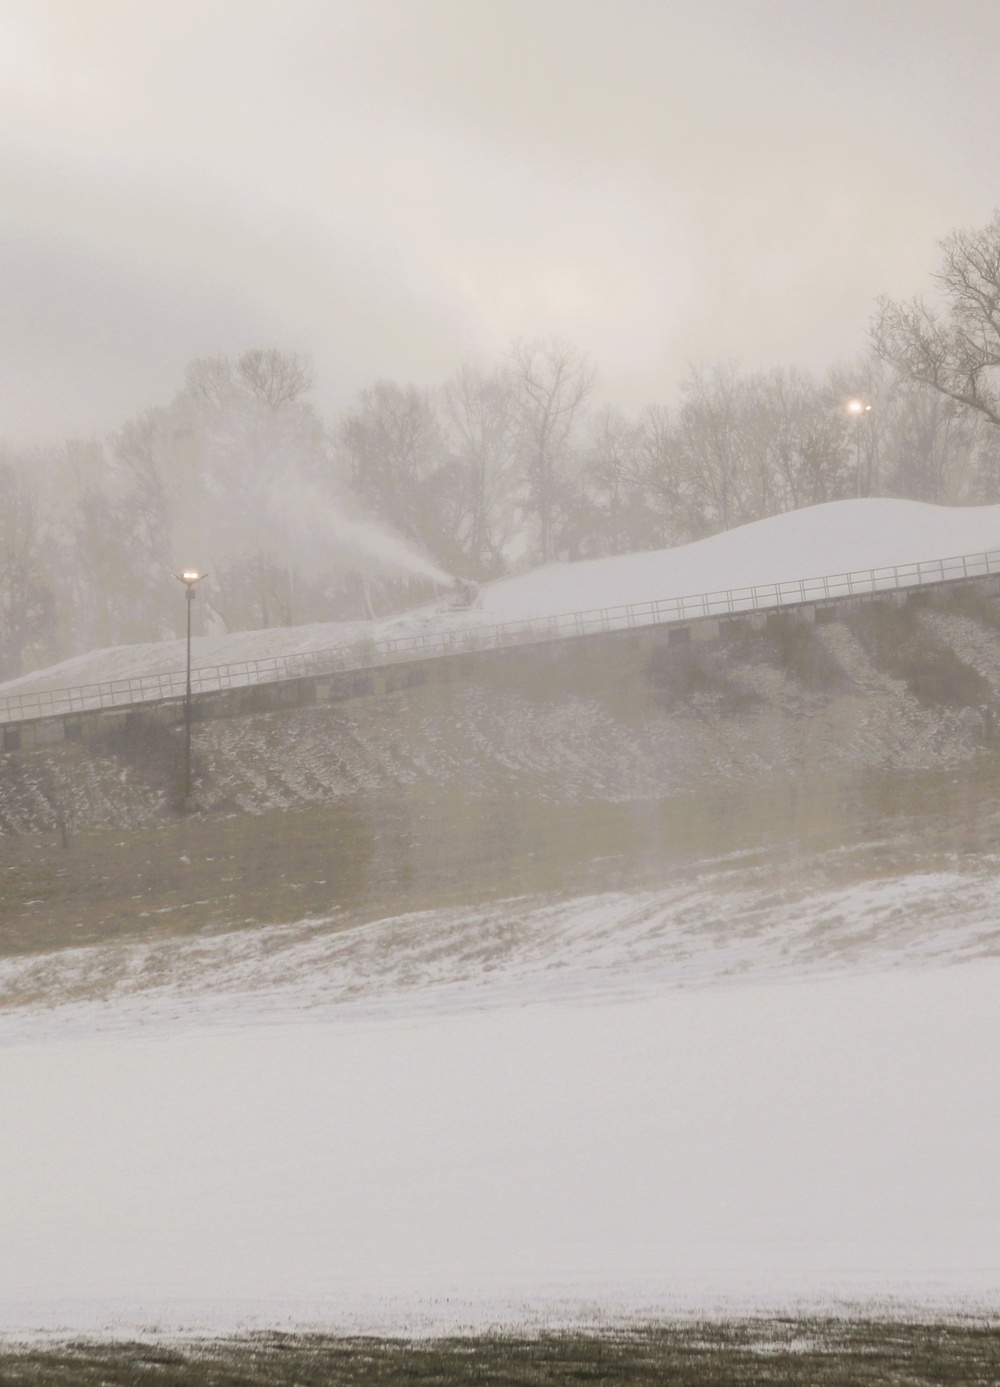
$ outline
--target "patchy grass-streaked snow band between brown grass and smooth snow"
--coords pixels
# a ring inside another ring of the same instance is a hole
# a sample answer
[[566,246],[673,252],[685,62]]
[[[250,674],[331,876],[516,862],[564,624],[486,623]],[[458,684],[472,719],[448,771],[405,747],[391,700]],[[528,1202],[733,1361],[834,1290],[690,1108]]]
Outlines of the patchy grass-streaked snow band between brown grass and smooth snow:
[[0,1018],[24,1036],[368,1021],[1000,958],[1000,857],[875,879],[854,879],[856,861],[827,850],[782,877],[770,853],[731,853],[655,889],[26,954],[0,960]]

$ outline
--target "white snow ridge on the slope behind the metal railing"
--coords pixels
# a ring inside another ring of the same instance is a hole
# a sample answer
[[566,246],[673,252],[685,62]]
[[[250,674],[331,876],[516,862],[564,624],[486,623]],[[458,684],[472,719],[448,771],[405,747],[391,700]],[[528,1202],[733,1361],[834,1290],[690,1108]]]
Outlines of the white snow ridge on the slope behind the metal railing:
[[[319,623],[196,637],[194,669],[308,655],[358,641],[555,617],[734,588],[932,562],[1000,549],[1000,506],[933,506],[872,498],[832,501],[727,530],[674,549],[552,563],[483,584],[474,606],[454,598],[381,621]],[[0,685],[6,694],[169,674],[184,642],[115,646],[75,656]]]

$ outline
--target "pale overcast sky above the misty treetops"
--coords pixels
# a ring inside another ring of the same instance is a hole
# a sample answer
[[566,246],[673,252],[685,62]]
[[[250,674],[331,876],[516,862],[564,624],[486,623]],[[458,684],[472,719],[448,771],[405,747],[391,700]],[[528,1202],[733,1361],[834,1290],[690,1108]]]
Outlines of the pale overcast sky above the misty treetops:
[[197,355],[821,368],[1000,204],[999,0],[0,0],[0,434]]

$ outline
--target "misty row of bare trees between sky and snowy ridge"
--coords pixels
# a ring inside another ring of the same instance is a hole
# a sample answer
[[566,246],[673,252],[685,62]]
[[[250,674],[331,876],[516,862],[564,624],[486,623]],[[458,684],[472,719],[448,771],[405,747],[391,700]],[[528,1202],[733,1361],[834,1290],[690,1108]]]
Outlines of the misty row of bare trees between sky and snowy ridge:
[[940,307],[882,300],[850,365],[691,366],[674,406],[631,415],[558,338],[430,388],[373,381],[337,419],[294,352],[193,361],[105,438],[0,444],[0,677],[179,634],[182,565],[209,571],[200,619],[245,630],[427,595],[398,537],[485,580],[843,497],[997,502],[1000,214],[942,243],[936,279]]

